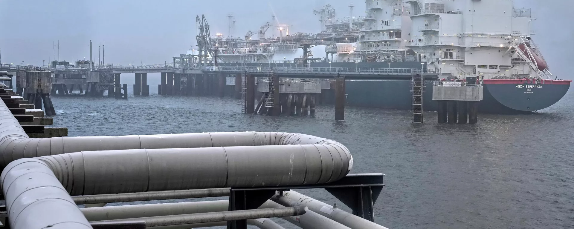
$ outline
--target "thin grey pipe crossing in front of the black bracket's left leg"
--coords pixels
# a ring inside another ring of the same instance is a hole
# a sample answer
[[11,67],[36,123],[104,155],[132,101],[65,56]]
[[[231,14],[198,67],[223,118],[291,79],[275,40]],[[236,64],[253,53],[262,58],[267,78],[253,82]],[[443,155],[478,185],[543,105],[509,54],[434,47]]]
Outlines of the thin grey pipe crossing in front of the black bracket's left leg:
[[205,212],[185,215],[152,216],[135,219],[105,220],[103,222],[144,221],[146,227],[160,227],[192,223],[211,223],[242,219],[259,219],[270,217],[297,216],[305,214],[307,207],[279,207],[265,209],[249,209],[225,212]]

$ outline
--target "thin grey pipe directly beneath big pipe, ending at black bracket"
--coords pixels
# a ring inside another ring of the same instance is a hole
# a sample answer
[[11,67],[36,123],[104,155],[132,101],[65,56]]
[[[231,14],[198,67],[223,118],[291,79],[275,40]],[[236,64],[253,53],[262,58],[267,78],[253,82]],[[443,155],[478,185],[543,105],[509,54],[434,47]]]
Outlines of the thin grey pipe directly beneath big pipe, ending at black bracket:
[[72,196],[76,204],[118,203],[146,200],[172,200],[203,197],[229,196],[229,188],[191,189],[158,192],[136,192],[121,194],[102,194],[88,196]]

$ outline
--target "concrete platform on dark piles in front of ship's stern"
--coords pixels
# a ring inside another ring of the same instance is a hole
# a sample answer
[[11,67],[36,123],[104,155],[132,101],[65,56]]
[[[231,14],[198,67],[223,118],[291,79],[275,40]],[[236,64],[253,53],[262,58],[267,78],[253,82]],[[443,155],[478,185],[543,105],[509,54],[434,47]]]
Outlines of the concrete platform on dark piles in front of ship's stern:
[[478,122],[478,102],[483,99],[482,82],[476,77],[467,81],[437,81],[433,85],[433,100],[439,103],[438,122],[474,125]]

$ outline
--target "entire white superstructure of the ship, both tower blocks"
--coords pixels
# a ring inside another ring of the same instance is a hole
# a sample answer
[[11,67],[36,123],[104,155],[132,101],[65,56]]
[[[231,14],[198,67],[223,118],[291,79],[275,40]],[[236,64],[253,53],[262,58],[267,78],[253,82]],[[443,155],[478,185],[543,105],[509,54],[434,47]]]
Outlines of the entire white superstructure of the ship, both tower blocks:
[[423,61],[441,78],[552,77],[530,38],[530,9],[512,0],[366,0],[348,61]]

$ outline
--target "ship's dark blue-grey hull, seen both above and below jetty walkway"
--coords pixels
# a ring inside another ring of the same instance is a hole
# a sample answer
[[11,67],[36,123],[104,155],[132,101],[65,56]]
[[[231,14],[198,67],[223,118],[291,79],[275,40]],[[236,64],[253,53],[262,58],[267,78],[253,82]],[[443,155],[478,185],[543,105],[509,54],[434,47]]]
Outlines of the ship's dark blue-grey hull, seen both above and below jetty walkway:
[[[222,65],[301,67],[294,63],[224,63]],[[420,68],[421,62],[405,61],[387,63],[310,63],[310,67],[333,68]],[[308,76],[298,76],[305,78]],[[331,78],[332,79],[332,78]],[[524,114],[552,106],[566,94],[570,80],[542,80],[534,83],[523,79],[484,80],[483,100],[479,102],[479,112],[492,114]],[[425,81],[423,108],[436,111],[437,102],[432,100],[433,81]],[[410,76],[397,76],[390,79],[347,79],[347,104],[349,106],[411,110]],[[322,90],[321,103],[334,104],[335,91]]]

